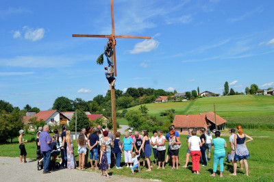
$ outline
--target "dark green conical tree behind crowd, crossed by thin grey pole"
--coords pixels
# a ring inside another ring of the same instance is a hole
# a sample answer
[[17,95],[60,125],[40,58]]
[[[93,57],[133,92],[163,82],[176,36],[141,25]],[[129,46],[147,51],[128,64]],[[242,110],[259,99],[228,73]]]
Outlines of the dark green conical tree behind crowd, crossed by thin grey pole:
[[[89,128],[92,126],[92,123],[86,116],[86,113],[82,109],[77,109],[77,131],[81,131],[82,128]],[[71,131],[75,131],[75,112],[73,117],[71,118],[71,122],[69,122],[69,129]]]

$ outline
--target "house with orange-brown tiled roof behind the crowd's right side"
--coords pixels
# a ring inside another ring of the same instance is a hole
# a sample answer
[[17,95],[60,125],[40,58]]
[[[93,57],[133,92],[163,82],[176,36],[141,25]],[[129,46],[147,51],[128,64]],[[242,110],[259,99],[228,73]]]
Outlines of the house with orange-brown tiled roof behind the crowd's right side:
[[202,128],[205,129],[216,129],[223,130],[225,129],[225,119],[221,118],[216,114],[216,124],[214,112],[203,112],[201,114],[194,115],[176,115],[173,120],[173,125],[175,130],[182,134],[188,134],[189,129],[194,129],[199,131]]

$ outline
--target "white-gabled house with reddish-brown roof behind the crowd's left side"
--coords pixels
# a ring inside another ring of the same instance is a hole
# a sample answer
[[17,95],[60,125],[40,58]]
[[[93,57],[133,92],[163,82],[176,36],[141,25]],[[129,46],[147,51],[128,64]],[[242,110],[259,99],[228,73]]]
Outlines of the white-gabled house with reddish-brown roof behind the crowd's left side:
[[64,114],[62,114],[58,110],[48,110],[48,111],[40,111],[35,116],[24,116],[23,122],[26,124],[32,124],[29,122],[29,119],[32,117],[37,117],[37,120],[41,120],[41,119],[45,120],[47,125],[55,125],[56,122],[58,124],[60,123],[60,124],[69,125],[69,121],[71,120],[67,118],[66,116],[64,116]]

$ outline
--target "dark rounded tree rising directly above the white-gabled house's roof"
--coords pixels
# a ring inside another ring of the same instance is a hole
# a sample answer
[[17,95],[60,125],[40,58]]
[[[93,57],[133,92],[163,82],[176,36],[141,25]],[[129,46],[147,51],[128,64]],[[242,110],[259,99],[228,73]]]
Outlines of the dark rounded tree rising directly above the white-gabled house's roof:
[[52,109],[58,109],[60,112],[72,112],[73,101],[65,96],[60,96],[55,99]]

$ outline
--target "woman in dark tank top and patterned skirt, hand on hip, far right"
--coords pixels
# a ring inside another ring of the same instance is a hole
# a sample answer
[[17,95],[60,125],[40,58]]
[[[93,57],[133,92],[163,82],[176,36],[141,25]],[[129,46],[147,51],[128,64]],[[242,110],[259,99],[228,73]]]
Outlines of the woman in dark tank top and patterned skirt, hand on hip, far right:
[[[238,134],[234,135],[234,148],[235,148],[235,156],[234,156],[234,163],[233,168],[234,172],[231,174],[232,176],[236,176],[237,172],[237,161],[244,160],[245,163],[245,175],[249,176],[248,173],[248,164],[247,159],[249,158],[249,151],[247,149],[247,142],[253,141],[249,135],[245,134],[242,131],[242,126],[238,125]],[[245,138],[249,138],[249,140],[245,141]]]

